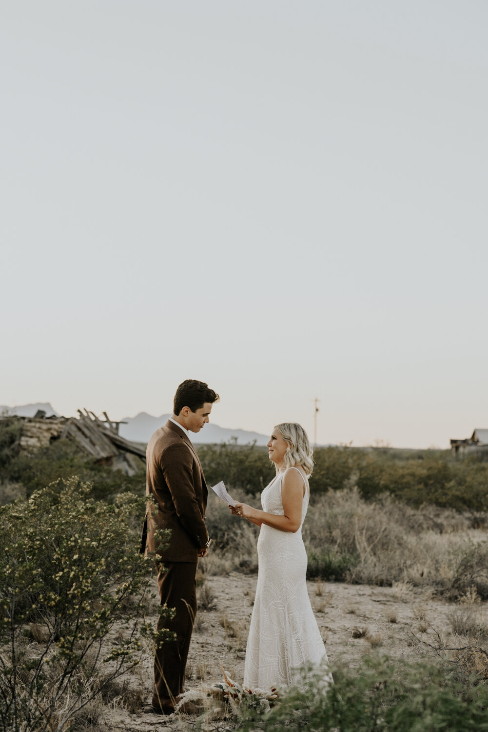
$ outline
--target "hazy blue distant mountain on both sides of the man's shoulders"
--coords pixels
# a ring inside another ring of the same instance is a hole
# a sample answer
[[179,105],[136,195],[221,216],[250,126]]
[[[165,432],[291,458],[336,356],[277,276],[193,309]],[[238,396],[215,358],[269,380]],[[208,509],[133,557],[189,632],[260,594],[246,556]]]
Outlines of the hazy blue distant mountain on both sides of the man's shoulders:
[[[121,437],[132,442],[148,442],[152,433],[158,427],[165,425],[170,417],[170,414],[153,417],[147,412],[140,412],[135,417],[124,417],[122,421],[127,422],[127,425],[120,425],[119,433]],[[256,441],[258,445],[266,445],[269,441],[268,435],[260,435],[258,432],[248,432],[247,430],[229,430],[227,427],[219,427],[212,423],[205,425],[199,433],[191,435],[192,442],[195,444],[228,442],[233,437],[237,438],[239,445],[253,441]]]

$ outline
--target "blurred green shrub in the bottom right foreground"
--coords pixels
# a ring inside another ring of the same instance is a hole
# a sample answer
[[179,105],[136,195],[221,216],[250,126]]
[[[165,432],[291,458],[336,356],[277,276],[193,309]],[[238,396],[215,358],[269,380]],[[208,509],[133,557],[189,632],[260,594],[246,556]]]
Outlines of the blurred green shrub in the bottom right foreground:
[[366,657],[360,668],[309,673],[304,689],[289,692],[267,714],[244,710],[243,732],[260,729],[309,732],[486,732],[488,689],[478,679],[464,683],[454,668]]

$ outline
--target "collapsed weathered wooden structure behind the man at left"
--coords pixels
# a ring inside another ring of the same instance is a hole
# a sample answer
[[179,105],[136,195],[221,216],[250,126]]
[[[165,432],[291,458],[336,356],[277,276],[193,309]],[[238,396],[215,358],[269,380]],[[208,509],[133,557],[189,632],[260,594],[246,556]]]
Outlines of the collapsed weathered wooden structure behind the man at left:
[[[100,419],[94,412],[78,409],[78,417],[45,417],[39,410],[34,417],[10,417],[22,422],[19,449],[22,452],[35,452],[48,447],[56,440],[70,440],[80,452],[108,465],[134,475],[140,470],[135,458],[146,460],[143,444],[130,442],[119,435],[120,422],[113,422],[106,412]],[[123,424],[123,423],[122,423]]]

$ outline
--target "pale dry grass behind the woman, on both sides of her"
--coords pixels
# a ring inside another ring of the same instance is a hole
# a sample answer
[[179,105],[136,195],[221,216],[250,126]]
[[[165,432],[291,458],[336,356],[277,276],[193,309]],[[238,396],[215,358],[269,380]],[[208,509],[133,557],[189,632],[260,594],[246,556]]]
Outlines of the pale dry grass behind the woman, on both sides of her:
[[[259,504],[256,496],[238,497]],[[209,575],[255,572],[256,528],[247,522],[236,525],[217,496],[209,496],[209,501],[219,523],[220,544],[205,560],[205,571]],[[455,600],[471,587],[488,599],[486,532],[471,526],[468,515],[451,509],[413,509],[387,495],[364,501],[356,488],[314,497],[312,485],[303,537],[309,557],[318,556],[313,566],[309,564],[310,571],[315,572],[318,561],[323,573],[310,576],[393,586],[399,599],[419,588]],[[317,597],[324,594],[324,587],[323,582],[316,583]]]

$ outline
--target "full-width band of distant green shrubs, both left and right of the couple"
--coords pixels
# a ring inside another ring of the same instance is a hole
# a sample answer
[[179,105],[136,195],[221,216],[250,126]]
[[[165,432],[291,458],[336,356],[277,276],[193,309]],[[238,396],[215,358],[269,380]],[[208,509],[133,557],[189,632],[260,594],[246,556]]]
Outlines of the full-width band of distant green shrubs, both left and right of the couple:
[[[121,490],[143,495],[142,460],[140,472],[127,477],[81,455],[68,440],[54,441],[32,455],[19,453],[20,426],[18,419],[0,419],[0,481],[5,485],[22,484],[29,496],[59,477],[78,475],[93,485],[94,498],[113,500]],[[255,444],[200,445],[198,455],[209,485],[223,480],[230,490],[255,496],[274,477],[266,448]],[[312,496],[356,485],[367,500],[388,493],[416,508],[436,505],[468,512],[473,526],[487,523],[488,462],[476,455],[458,460],[448,450],[319,447],[314,460]]]

